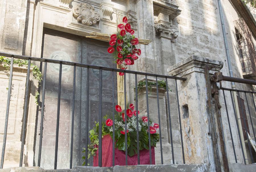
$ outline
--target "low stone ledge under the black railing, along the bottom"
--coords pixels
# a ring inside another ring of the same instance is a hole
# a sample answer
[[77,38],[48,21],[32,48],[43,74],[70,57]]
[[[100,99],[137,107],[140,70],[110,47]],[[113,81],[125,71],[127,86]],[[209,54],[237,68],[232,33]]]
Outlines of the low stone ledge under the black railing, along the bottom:
[[164,165],[129,165],[115,167],[84,167],[78,166],[73,169],[57,169],[57,170],[44,170],[40,167],[14,167],[7,169],[0,169],[0,172],[206,172],[209,171],[209,165],[207,164],[164,164]]

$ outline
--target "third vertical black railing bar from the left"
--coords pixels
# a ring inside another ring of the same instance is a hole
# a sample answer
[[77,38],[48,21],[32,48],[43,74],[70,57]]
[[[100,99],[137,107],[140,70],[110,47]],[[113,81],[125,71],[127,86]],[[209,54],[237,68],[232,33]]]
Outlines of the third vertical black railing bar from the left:
[[42,92],[42,107],[41,107],[41,124],[40,124],[40,140],[39,140],[39,152],[38,152],[38,167],[41,162],[41,151],[42,151],[42,139],[43,139],[43,125],[44,125],[44,96],[45,96],[45,82],[46,82],[46,70],[47,62],[44,62],[44,77],[43,77],[43,92]]

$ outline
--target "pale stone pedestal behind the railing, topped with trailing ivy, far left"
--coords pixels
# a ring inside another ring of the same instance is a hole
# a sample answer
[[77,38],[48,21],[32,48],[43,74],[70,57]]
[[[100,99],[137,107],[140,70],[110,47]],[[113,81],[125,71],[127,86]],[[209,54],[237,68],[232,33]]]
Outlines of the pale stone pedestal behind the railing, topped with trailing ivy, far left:
[[[5,114],[7,105],[7,93],[9,86],[9,72],[0,63],[0,154],[2,154],[3,134],[5,127]],[[32,78],[32,68],[30,70],[30,78]],[[18,167],[20,161],[21,133],[24,110],[24,98],[26,89],[27,68],[23,66],[13,65],[12,91],[9,109],[9,118],[7,125],[7,140],[5,147],[4,168]],[[23,166],[33,166],[34,161],[34,131],[36,123],[36,103],[35,92],[38,80],[33,80],[29,84],[29,109],[27,118],[27,133],[24,142]]]

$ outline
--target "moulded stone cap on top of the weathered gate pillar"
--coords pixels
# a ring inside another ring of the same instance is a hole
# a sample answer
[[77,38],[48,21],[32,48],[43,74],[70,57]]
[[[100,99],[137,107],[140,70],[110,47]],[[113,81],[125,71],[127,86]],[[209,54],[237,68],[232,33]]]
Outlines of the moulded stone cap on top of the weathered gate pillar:
[[220,69],[222,69],[223,62],[219,60],[212,60],[198,56],[191,56],[169,67],[167,69],[167,72],[169,73],[169,75],[172,76],[184,77],[185,75],[190,74],[191,72],[204,73],[204,68],[206,65],[214,67],[211,70],[209,70],[210,74],[214,74],[215,72],[219,72]]

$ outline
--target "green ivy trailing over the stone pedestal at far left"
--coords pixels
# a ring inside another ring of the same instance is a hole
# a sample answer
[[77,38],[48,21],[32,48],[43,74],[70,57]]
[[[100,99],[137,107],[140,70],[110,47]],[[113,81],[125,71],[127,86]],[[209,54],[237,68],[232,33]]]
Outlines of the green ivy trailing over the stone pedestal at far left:
[[[0,56],[0,62],[3,63],[3,67],[7,70],[7,72],[10,71],[10,65],[11,65],[11,59],[4,57],[4,56]],[[21,60],[21,59],[14,59],[13,60],[13,64],[18,64],[18,66],[26,66],[28,67],[28,60]],[[40,72],[40,69],[34,65],[34,64],[30,64],[30,66],[32,67],[32,74],[33,76],[39,80],[39,82],[42,80],[42,73]],[[8,90],[8,88],[6,88]],[[36,91],[36,96],[35,96],[35,103],[38,105],[38,96],[39,93],[38,91]]]

